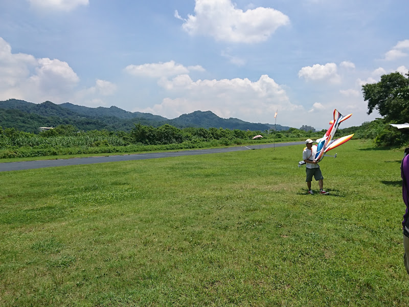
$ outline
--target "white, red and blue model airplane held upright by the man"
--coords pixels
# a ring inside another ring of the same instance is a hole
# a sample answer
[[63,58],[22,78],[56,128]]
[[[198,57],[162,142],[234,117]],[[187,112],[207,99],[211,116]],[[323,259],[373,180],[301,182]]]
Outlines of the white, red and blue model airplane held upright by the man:
[[[331,126],[327,130],[326,134],[324,137],[321,139],[316,140],[318,143],[317,145],[314,145],[317,147],[316,149],[316,155],[314,158],[314,161],[320,162],[325,156],[325,153],[331,149],[334,149],[335,147],[338,147],[339,145],[344,144],[345,142],[349,141],[354,135],[349,135],[346,137],[342,137],[336,140],[333,140],[333,137],[335,135],[336,130],[338,129],[338,126],[340,123],[342,123],[344,120],[348,119],[351,117],[352,114],[348,114],[346,116],[341,115],[337,109],[334,109],[334,120],[331,120],[329,123]],[[329,156],[329,157],[334,157],[336,158],[336,153],[335,156]],[[300,161],[298,163],[298,167],[301,165],[306,164],[304,161]]]

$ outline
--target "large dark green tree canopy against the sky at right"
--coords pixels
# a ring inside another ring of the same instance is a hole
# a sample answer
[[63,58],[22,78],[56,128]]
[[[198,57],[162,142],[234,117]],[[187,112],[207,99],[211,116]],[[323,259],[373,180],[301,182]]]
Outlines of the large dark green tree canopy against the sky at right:
[[405,76],[390,73],[382,75],[377,83],[362,85],[368,115],[377,109],[389,122],[409,122],[409,72]]

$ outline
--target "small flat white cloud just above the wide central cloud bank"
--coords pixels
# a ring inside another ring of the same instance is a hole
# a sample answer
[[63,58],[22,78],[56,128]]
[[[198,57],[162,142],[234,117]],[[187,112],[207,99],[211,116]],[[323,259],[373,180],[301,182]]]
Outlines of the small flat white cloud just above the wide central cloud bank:
[[185,67],[182,64],[177,64],[175,61],[150,63],[142,65],[128,65],[125,72],[133,76],[151,77],[151,78],[166,78],[180,74],[187,74],[189,70],[205,71],[200,65]]

